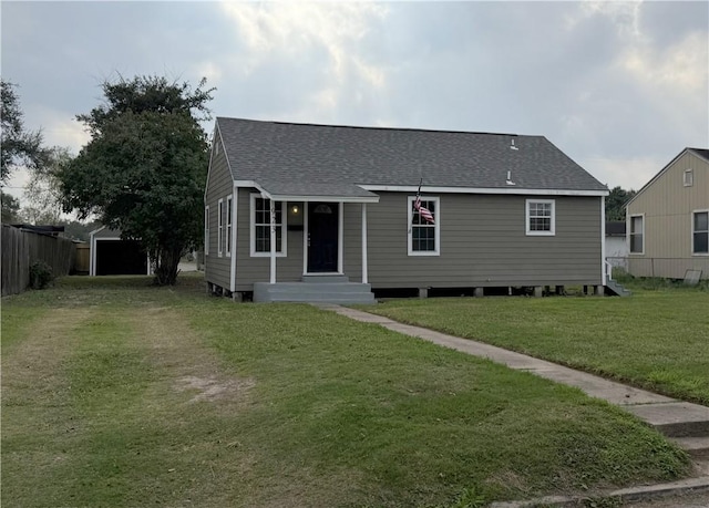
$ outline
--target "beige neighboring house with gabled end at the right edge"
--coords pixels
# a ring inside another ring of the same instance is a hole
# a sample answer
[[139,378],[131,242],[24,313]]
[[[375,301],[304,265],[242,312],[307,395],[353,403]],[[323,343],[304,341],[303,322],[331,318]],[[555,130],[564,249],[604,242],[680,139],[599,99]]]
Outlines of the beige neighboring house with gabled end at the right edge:
[[709,278],[709,149],[685,148],[626,206],[628,270],[636,277]]

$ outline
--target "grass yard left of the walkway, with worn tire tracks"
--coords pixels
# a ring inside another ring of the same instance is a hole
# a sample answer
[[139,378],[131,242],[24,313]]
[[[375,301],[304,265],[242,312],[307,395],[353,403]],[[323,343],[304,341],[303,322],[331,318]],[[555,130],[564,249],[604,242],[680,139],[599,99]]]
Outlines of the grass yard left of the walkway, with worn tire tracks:
[[689,473],[574,388],[308,305],[146,280],[3,299],[7,506],[475,506]]

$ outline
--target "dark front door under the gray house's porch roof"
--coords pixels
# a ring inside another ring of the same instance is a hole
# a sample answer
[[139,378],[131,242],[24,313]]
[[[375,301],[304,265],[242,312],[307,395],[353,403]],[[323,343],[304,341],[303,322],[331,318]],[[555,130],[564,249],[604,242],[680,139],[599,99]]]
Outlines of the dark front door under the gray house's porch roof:
[[308,273],[338,271],[337,203],[308,203]]

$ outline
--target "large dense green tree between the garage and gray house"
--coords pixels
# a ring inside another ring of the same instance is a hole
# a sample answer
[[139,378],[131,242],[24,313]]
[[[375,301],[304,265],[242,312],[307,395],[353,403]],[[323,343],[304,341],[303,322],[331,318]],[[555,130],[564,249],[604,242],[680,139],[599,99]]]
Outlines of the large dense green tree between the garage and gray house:
[[208,144],[199,121],[214,91],[205,83],[105,82],[105,104],[78,116],[91,141],[59,173],[64,211],[140,239],[161,286],[175,283],[181,256],[202,241]]

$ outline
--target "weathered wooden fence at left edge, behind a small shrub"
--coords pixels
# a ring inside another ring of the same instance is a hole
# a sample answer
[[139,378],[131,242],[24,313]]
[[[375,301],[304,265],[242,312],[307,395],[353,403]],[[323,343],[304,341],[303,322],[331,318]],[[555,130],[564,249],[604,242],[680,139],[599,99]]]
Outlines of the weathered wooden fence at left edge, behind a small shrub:
[[74,268],[76,247],[66,238],[56,238],[2,225],[2,296],[18,294],[30,284],[30,267],[44,261],[55,277]]

